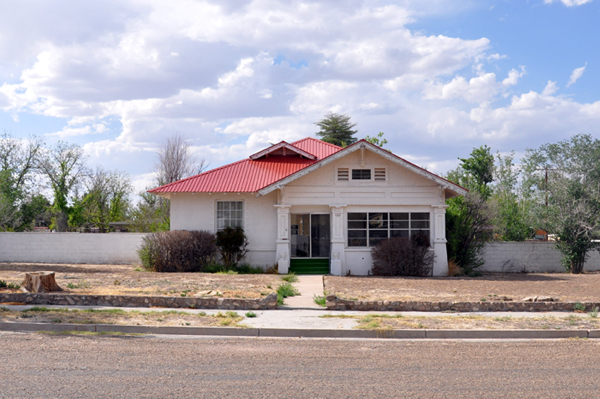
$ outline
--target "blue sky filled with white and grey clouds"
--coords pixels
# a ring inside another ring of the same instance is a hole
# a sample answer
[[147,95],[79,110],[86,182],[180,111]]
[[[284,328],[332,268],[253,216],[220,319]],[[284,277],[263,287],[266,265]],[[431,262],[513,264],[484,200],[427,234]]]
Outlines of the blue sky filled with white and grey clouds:
[[600,0],[0,0],[0,131],[152,183],[179,134],[209,168],[316,137],[436,173],[600,138]]

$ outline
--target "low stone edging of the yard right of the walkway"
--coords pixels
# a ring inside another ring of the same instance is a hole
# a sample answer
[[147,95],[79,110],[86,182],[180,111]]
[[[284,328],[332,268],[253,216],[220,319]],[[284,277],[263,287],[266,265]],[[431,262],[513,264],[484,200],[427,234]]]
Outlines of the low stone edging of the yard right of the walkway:
[[[370,310],[397,312],[572,312],[576,302],[426,302],[426,301],[353,301],[327,295],[327,310]],[[600,303],[583,302],[586,311]]]

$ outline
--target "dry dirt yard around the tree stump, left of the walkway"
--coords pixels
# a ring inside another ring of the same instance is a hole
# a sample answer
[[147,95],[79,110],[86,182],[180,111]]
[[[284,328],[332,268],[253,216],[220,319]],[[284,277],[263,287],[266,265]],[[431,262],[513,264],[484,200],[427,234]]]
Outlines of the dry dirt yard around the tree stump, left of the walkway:
[[73,294],[223,298],[261,298],[275,292],[281,283],[279,276],[273,274],[152,273],[140,270],[132,265],[0,263],[0,280],[21,284],[26,272],[53,271],[58,285]]

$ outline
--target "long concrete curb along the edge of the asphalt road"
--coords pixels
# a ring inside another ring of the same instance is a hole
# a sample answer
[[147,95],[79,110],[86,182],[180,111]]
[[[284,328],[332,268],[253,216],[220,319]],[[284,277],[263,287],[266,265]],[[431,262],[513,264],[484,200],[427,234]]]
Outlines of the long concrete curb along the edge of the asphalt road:
[[196,335],[265,338],[388,338],[388,339],[561,339],[600,338],[600,330],[331,330],[304,328],[235,328],[133,326],[115,324],[51,324],[0,322],[0,331],[97,332],[151,335]]

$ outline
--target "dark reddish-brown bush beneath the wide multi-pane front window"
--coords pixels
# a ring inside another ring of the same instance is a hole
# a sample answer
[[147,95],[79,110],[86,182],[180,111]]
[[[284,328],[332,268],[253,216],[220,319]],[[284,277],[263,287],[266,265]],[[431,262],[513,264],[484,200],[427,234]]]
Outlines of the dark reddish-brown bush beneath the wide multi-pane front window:
[[426,237],[395,237],[371,250],[375,276],[430,276],[435,255]]

